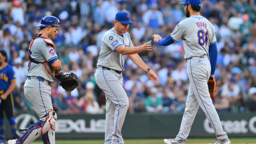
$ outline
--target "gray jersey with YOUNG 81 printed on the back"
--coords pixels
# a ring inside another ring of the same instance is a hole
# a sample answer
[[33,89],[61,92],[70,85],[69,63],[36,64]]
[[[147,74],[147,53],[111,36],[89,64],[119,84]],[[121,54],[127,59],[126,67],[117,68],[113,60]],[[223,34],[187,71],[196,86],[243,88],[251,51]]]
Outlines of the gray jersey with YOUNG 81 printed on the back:
[[209,45],[216,43],[213,25],[202,16],[191,16],[181,21],[170,36],[175,42],[182,38],[186,59],[209,55]]

